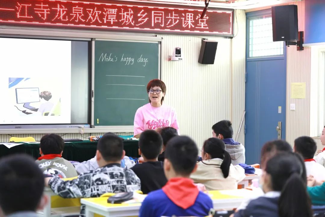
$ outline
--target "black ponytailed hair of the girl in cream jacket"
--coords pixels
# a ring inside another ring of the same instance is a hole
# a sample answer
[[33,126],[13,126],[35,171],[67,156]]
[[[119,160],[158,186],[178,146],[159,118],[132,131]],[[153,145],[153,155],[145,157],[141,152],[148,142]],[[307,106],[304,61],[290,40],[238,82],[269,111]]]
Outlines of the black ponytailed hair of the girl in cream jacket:
[[225,143],[217,138],[210,138],[206,140],[203,144],[203,152],[209,154],[211,158],[223,159],[220,169],[225,178],[229,175],[229,168],[231,164],[230,154],[226,151]]

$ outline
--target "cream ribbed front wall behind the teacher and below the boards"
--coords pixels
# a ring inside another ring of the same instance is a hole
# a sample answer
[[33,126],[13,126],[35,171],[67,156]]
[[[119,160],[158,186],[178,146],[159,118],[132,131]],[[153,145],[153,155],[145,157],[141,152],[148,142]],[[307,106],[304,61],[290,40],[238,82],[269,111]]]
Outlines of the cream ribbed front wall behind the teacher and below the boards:
[[[164,103],[176,109],[181,134],[191,136],[199,147],[204,140],[212,136],[211,127],[219,120],[229,119],[233,122],[235,137],[245,109],[245,11],[237,10],[235,18],[236,37],[233,39],[159,35],[163,37],[161,78],[167,85]],[[198,63],[201,38],[218,41],[213,65]],[[175,47],[182,48],[184,61],[167,61],[168,55],[172,55]],[[91,135],[102,134],[93,132]],[[133,133],[124,133],[131,134]],[[13,136],[33,136],[36,140],[40,140],[43,135]],[[89,133],[84,135],[67,133],[63,138],[85,139],[89,135]],[[8,134],[0,135],[0,142],[8,142],[9,137]],[[243,130],[238,141],[244,143]]]

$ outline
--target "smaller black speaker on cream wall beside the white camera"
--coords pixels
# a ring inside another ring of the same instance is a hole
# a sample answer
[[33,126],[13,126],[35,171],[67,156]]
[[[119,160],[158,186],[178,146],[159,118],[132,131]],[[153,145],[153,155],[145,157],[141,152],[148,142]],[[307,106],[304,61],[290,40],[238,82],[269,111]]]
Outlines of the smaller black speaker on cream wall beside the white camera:
[[199,56],[199,63],[214,64],[215,52],[217,50],[217,41],[201,41],[201,50]]

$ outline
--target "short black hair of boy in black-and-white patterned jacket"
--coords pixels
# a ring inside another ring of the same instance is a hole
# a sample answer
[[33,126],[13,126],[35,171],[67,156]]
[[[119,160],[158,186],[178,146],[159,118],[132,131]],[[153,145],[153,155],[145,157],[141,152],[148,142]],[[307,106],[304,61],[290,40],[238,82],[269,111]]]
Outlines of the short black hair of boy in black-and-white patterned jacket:
[[105,161],[119,161],[123,155],[123,141],[114,133],[105,133],[97,143],[97,150]]

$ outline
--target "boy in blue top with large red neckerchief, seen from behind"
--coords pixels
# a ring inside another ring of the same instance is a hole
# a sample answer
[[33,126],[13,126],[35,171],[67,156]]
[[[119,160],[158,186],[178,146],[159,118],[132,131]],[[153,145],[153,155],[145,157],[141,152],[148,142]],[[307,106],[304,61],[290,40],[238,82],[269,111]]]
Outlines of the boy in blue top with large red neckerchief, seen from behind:
[[176,136],[168,142],[164,160],[168,182],[144,199],[139,217],[208,215],[213,208],[211,198],[189,179],[197,168],[197,154],[195,142],[187,136]]

